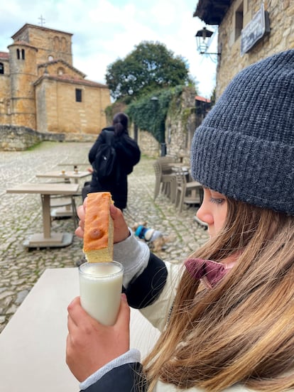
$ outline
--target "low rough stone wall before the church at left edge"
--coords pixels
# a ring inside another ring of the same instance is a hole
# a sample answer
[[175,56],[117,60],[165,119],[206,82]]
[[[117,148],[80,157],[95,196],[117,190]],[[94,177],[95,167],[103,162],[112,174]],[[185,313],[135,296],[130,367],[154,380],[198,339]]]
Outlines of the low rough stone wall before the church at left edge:
[[41,134],[26,126],[0,125],[0,151],[23,151],[41,141],[64,140],[64,134]]

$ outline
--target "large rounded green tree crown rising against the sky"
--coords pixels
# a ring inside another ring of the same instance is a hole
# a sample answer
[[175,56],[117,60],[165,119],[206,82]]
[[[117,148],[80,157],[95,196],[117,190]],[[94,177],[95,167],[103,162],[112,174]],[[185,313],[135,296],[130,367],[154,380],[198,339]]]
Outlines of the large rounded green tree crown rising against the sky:
[[162,43],[143,41],[107,67],[111,97],[129,103],[158,88],[188,85],[191,80],[185,60]]

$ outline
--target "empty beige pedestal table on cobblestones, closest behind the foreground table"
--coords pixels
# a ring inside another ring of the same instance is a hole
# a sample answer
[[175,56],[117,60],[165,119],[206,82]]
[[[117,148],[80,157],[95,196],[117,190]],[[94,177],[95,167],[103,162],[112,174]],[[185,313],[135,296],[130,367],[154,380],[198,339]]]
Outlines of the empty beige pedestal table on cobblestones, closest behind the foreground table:
[[24,183],[6,190],[7,193],[39,193],[42,200],[43,233],[33,234],[23,243],[28,248],[62,247],[72,243],[71,233],[52,233],[50,217],[50,195],[75,195],[78,184]]

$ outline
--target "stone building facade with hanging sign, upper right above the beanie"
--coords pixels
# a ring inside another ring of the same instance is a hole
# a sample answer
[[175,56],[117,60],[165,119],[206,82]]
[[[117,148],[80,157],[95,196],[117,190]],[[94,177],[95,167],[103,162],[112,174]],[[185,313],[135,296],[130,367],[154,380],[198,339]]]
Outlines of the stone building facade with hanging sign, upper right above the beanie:
[[217,97],[244,67],[294,48],[292,0],[199,0],[194,16],[218,26]]

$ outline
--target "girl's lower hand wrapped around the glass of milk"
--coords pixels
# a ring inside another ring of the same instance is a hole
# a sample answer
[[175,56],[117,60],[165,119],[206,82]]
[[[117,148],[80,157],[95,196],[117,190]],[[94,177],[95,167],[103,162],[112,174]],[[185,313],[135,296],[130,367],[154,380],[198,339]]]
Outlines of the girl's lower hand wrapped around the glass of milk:
[[116,323],[105,326],[90,317],[75,298],[67,307],[66,363],[80,382],[121,354],[129,351],[130,308],[126,295],[121,295],[121,307]]

